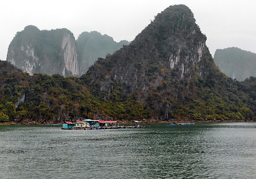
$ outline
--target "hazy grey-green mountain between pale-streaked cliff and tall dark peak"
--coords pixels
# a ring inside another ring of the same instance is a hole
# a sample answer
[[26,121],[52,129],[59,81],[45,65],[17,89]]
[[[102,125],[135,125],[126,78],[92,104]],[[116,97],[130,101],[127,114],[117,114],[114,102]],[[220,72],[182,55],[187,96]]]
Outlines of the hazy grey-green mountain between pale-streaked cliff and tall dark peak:
[[99,57],[105,57],[119,50],[123,45],[128,45],[126,40],[115,42],[108,35],[101,35],[97,31],[83,32],[76,40],[78,51],[79,74],[84,75],[89,67],[98,60]]

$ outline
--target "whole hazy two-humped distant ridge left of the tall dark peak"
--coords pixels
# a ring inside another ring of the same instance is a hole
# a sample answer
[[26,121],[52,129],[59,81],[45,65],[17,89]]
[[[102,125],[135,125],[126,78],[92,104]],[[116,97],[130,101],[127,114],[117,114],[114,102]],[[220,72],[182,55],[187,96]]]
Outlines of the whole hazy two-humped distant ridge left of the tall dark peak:
[[75,41],[73,33],[64,28],[40,31],[35,26],[26,26],[10,43],[6,60],[30,75],[81,76],[98,57],[128,44],[117,43],[96,31],[83,32]]

